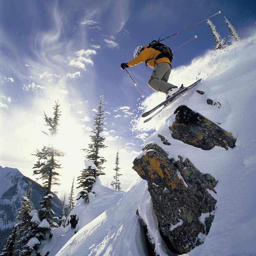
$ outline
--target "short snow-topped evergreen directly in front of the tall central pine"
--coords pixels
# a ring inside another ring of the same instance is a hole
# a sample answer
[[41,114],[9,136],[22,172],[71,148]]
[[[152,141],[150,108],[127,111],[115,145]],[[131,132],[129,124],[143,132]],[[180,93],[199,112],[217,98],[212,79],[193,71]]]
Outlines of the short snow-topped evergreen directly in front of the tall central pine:
[[92,190],[92,186],[95,182],[97,170],[96,168],[92,168],[92,166],[86,166],[83,171],[81,171],[81,175],[77,178],[79,186],[77,189],[82,188],[82,191],[80,191],[80,198],[83,198],[85,202],[89,202],[89,193]]

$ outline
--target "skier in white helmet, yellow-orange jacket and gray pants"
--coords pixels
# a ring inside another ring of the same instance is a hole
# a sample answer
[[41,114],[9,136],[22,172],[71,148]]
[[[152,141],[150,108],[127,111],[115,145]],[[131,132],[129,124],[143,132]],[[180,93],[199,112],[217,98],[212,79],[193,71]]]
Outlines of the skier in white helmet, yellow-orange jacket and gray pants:
[[154,49],[154,46],[152,47],[157,43],[156,41],[153,42],[149,46],[136,47],[133,53],[134,59],[128,63],[122,63],[121,69],[124,70],[145,61],[146,65],[154,68],[148,80],[148,85],[157,92],[165,93],[166,99],[168,99],[178,90],[176,85],[167,82],[171,74],[171,61],[168,57],[163,56],[159,50]]

